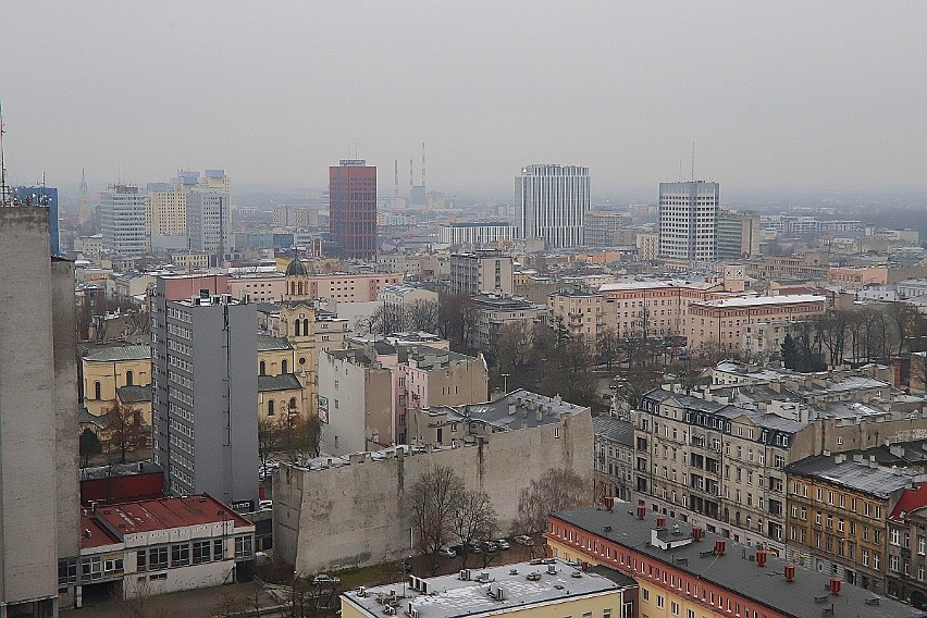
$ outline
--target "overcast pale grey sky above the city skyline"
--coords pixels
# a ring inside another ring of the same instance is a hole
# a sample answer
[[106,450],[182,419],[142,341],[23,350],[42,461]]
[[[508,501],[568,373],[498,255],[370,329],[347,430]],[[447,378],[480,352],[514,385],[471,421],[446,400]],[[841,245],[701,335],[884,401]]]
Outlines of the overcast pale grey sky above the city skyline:
[[224,168],[323,186],[428,148],[430,189],[927,187],[925,2],[33,2],[0,11],[13,182]]

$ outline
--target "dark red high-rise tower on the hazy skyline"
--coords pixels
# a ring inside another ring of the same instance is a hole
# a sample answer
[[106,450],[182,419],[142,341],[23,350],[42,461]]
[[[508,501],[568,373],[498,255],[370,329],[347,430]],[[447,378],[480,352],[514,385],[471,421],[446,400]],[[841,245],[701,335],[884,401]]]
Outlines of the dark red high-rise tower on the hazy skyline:
[[344,257],[376,256],[376,166],[342,159],[329,168],[329,221],[332,240]]

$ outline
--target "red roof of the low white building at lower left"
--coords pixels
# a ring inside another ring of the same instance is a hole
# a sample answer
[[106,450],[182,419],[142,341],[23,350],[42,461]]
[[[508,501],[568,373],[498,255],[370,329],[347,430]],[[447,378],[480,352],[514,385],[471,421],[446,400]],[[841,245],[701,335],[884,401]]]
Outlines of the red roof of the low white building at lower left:
[[94,515],[122,534],[218,523],[230,519],[235,522],[235,528],[254,526],[206,494],[106,505],[98,507]]

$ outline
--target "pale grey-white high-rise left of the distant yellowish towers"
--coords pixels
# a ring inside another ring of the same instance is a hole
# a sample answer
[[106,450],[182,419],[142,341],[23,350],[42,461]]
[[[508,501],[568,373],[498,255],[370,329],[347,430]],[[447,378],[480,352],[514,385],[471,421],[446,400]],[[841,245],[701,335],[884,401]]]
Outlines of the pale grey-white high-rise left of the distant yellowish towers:
[[143,256],[148,246],[145,194],[138,187],[113,185],[100,194],[100,232],[103,250],[126,258]]

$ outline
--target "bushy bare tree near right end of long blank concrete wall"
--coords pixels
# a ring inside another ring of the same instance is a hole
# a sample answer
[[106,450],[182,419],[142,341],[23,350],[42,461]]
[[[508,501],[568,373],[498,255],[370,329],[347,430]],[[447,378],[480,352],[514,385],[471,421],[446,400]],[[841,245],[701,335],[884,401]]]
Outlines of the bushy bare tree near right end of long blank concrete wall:
[[521,490],[518,498],[518,527],[536,535],[547,529],[547,515],[589,506],[592,483],[572,470],[551,468],[537,481]]

